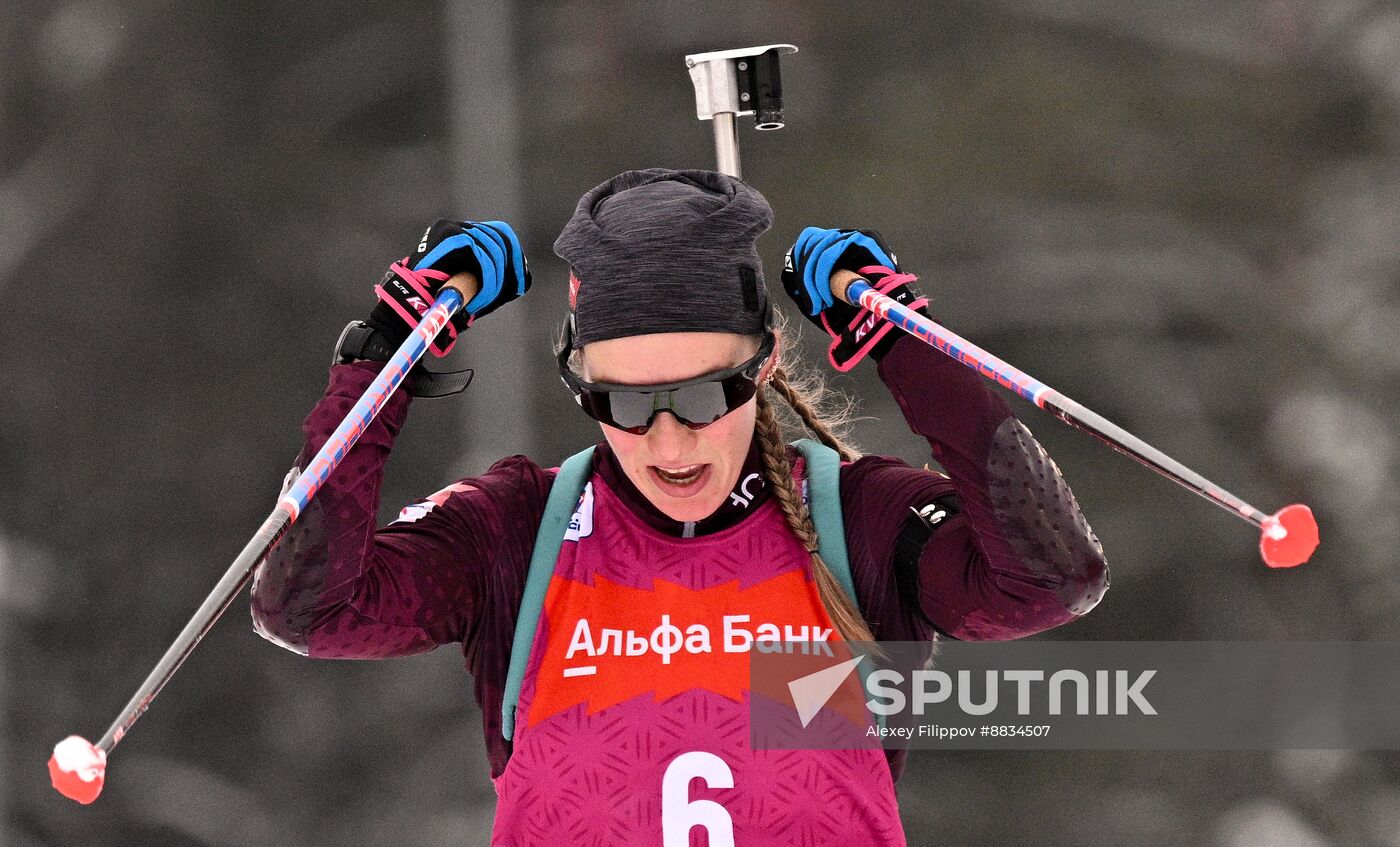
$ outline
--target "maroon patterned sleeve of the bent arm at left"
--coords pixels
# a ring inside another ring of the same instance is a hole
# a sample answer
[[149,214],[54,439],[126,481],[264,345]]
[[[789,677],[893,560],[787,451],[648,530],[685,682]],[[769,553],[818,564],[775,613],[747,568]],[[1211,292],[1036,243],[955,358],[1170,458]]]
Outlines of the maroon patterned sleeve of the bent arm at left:
[[[332,368],[302,427],[298,466],[374,379],[377,363]],[[253,624],[316,658],[384,658],[463,641],[469,655],[493,601],[517,598],[549,473],[511,456],[410,504],[377,529],[384,465],[407,416],[395,395],[258,568]],[[524,536],[524,538],[521,538]],[[514,608],[514,606],[512,606]]]

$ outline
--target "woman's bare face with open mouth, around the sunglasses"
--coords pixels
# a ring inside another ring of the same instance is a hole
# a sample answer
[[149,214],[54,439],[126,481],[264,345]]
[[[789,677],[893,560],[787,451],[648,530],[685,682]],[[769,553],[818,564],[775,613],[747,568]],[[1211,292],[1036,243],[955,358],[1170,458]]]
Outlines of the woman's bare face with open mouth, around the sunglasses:
[[[585,344],[584,379],[661,385],[743,364],[759,339],[725,332],[666,332]],[[763,367],[766,378],[777,350]],[[643,435],[599,424],[627,477],[675,521],[700,521],[724,503],[739,480],[753,440],[756,400],[713,424],[692,430],[661,412]]]

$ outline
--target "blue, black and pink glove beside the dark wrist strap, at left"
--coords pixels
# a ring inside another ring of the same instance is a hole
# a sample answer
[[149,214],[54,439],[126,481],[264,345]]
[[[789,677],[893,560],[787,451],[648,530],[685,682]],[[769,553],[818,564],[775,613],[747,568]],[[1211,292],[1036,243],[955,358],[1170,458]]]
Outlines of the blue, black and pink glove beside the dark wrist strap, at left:
[[452,349],[458,330],[529,291],[529,263],[510,224],[452,220],[433,223],[419,238],[413,252],[395,262],[375,286],[379,304],[368,323],[391,342],[402,343],[433,305],[444,283],[463,274],[476,284],[459,284],[462,279],[454,280],[454,287],[469,300],[434,342],[433,351],[438,356],[445,356]]

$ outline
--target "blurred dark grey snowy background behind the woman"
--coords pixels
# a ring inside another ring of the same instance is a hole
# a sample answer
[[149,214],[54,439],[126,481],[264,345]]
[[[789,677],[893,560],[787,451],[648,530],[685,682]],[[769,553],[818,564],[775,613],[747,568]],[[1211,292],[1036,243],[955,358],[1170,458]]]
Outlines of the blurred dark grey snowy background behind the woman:
[[[1400,6],[1361,0],[171,3],[0,14],[0,847],[484,844],[459,654],[309,662],[239,601],[80,808],[97,738],[270,508],[332,343],[438,216],[536,287],[419,402],[385,515],[596,428],[550,244],[634,167],[713,167],[682,57],[792,42],[743,130],[781,252],[885,232],[953,329],[1271,511],[1313,563],[1014,400],[1109,554],[1063,638],[1400,638]],[[819,361],[811,333],[809,358]],[[864,370],[864,368],[862,368]],[[874,452],[927,448],[869,372]],[[911,844],[1400,844],[1400,756],[917,753]]]

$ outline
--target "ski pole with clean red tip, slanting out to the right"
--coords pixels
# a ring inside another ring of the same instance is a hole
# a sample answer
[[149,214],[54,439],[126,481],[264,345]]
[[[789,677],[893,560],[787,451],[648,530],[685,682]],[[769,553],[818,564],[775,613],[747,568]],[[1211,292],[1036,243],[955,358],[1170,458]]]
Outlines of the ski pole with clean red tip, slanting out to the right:
[[832,293],[846,302],[869,309],[918,340],[951,356],[987,379],[1009,388],[1064,423],[1093,435],[1120,454],[1137,459],[1189,491],[1253,524],[1260,531],[1259,553],[1270,567],[1294,567],[1308,561],[1317,549],[1317,521],[1301,503],[1267,515],[1235,494],[1142,441],[1102,414],[1071,400],[945,326],[900,305],[850,270],[832,274]]

